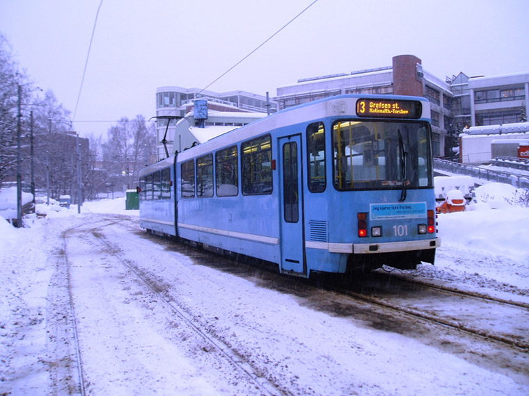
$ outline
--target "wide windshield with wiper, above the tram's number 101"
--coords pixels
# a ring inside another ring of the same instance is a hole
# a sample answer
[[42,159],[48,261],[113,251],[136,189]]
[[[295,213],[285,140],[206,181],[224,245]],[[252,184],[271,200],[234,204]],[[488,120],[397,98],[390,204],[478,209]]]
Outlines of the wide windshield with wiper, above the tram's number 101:
[[335,188],[431,188],[430,136],[426,122],[336,122],[333,124]]

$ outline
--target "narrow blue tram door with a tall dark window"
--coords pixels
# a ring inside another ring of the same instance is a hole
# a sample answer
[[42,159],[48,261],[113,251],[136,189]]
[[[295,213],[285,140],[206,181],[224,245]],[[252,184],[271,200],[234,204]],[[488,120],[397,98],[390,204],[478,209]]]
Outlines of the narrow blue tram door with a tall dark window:
[[279,139],[281,270],[306,273],[303,236],[301,135]]

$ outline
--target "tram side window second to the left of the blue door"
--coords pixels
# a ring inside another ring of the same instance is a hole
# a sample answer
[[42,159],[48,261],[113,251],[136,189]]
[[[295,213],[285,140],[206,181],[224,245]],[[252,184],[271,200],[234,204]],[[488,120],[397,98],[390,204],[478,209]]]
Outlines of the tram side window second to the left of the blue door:
[[235,197],[239,194],[237,146],[216,152],[215,173],[217,197]]

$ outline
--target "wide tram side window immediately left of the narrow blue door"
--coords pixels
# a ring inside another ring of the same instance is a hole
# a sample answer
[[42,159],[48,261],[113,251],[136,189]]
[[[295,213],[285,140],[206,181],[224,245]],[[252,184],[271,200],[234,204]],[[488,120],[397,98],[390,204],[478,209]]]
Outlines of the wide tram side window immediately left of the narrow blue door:
[[242,193],[272,193],[272,149],[270,135],[242,143]]

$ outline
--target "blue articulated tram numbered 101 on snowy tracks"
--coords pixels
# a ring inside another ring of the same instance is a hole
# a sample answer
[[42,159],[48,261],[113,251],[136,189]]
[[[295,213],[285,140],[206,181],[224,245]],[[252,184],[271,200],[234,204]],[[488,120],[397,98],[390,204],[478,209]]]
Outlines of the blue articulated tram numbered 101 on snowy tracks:
[[140,173],[140,224],[310,277],[434,263],[429,102],[340,95],[287,108]]

